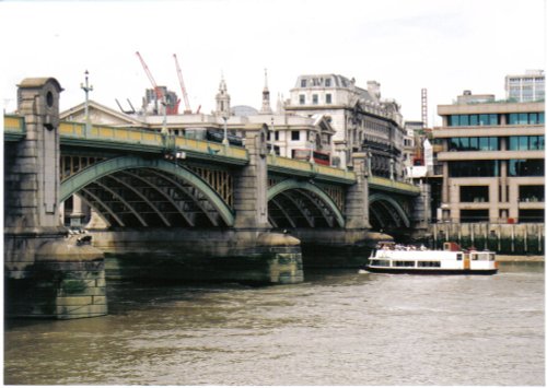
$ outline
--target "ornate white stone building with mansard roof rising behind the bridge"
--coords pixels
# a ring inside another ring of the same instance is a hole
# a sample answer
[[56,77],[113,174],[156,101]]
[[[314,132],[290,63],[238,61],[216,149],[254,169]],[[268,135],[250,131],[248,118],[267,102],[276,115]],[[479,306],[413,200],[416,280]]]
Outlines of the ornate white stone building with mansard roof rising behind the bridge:
[[335,165],[351,166],[353,152],[366,152],[373,175],[401,178],[405,130],[399,106],[381,99],[380,83],[369,81],[366,86],[361,89],[354,79],[338,74],[300,75],[284,109],[331,118]]

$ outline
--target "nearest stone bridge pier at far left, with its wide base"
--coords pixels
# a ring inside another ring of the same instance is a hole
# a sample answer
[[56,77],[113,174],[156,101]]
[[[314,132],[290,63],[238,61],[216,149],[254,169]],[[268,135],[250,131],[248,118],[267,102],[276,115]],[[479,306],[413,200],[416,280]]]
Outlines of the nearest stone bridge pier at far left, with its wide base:
[[86,244],[89,237],[68,237],[59,220],[61,91],[51,78],[25,79],[19,85],[26,134],[4,148],[7,317],[106,314],[103,252]]

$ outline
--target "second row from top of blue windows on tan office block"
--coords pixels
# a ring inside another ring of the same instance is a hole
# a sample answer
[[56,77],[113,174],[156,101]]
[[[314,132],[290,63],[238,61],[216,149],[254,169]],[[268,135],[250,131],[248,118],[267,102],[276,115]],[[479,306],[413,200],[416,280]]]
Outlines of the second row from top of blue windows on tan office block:
[[[499,138],[451,138],[450,151],[500,151]],[[508,151],[542,151],[545,150],[545,137],[520,136],[508,138]]]

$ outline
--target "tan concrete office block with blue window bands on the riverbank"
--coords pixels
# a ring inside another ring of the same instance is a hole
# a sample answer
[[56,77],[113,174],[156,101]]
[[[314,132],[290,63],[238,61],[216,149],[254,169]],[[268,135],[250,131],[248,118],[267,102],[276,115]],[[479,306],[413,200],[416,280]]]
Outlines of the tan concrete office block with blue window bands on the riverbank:
[[545,105],[469,91],[439,105],[442,222],[543,223]]

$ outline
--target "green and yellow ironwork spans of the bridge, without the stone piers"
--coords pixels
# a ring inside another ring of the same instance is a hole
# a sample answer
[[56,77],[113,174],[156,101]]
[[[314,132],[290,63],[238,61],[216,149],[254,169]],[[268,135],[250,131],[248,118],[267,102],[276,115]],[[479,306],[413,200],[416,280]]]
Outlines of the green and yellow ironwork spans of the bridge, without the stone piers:
[[[131,128],[93,125],[86,132],[79,122],[60,122],[59,133],[60,202],[78,193],[107,226],[234,226],[233,169],[249,163],[245,148]],[[7,143],[25,136],[24,117],[4,117]],[[274,154],[267,171],[274,227],[345,226],[345,191],[356,184],[354,172]],[[366,180],[371,223],[386,232],[410,227],[405,197],[420,189]]]

